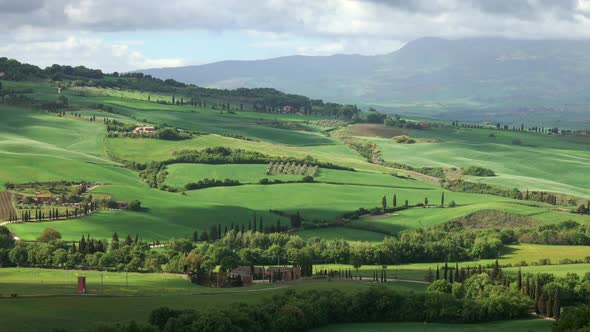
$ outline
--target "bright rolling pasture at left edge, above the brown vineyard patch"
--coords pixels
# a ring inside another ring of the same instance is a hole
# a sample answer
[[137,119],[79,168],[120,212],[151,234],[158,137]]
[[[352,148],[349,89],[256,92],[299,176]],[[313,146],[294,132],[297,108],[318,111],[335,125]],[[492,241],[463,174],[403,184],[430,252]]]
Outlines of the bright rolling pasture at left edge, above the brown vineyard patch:
[[0,183],[88,181],[143,186],[106,159],[104,126],[20,107],[0,107]]

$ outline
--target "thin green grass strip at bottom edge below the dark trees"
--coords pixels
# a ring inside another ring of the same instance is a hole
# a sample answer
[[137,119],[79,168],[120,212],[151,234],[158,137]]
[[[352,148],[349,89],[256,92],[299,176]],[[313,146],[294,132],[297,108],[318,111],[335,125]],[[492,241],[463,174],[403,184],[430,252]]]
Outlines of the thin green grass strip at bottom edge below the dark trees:
[[314,329],[314,332],[447,332],[447,331],[522,331],[522,332],[549,332],[552,321],[543,319],[500,321],[482,324],[441,324],[441,323],[364,323],[331,325]]

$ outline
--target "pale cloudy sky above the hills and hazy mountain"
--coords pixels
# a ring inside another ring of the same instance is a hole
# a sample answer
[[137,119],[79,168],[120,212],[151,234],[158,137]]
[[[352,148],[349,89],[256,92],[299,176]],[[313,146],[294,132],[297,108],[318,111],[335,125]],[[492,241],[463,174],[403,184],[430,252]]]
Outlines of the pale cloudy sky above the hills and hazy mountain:
[[590,38],[590,0],[0,0],[0,57],[106,72],[491,36]]

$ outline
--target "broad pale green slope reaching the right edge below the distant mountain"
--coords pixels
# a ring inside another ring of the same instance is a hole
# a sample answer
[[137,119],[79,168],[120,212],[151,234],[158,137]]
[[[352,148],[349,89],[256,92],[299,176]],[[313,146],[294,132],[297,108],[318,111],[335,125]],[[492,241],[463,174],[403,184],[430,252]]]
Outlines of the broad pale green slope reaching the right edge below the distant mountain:
[[[489,137],[492,133],[495,138]],[[590,178],[580,176],[588,171],[590,163],[589,139],[482,129],[414,130],[411,136],[440,142],[408,145],[372,140],[388,161],[413,166],[481,165],[498,176],[472,180],[590,197]],[[513,139],[520,139],[523,145],[513,145]]]

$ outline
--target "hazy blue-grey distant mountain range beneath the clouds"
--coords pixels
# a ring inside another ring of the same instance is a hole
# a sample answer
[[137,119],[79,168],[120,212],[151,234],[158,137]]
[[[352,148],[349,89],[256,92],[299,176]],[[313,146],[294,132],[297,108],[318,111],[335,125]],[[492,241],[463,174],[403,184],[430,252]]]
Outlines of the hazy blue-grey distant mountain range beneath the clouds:
[[590,41],[422,38],[377,55],[288,56],[141,70],[273,87],[414,116],[590,127]]

